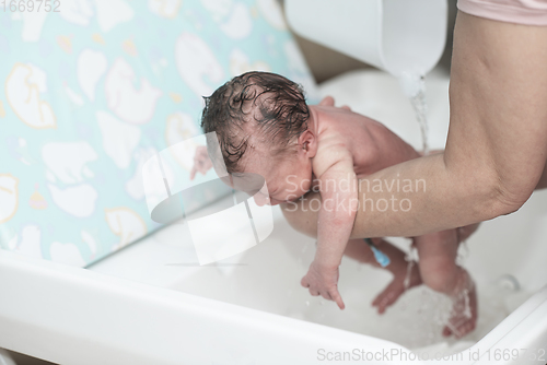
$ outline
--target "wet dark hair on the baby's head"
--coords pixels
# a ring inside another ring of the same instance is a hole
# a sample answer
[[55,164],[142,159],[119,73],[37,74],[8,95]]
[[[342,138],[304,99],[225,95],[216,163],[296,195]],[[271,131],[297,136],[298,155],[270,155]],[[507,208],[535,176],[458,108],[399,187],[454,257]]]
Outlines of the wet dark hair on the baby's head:
[[292,151],[307,129],[310,110],[302,86],[276,73],[243,73],[203,98],[201,128],[217,132],[228,173],[242,172],[240,161],[252,134],[270,141],[272,155],[279,155]]

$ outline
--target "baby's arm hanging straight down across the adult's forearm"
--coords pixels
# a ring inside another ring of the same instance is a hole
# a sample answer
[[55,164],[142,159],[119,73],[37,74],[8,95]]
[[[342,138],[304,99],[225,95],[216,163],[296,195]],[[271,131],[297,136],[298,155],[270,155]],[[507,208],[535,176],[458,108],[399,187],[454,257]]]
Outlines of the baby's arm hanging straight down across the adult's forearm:
[[[321,187],[322,204],[317,219],[317,251],[301,284],[312,295],[345,305],[338,293],[338,267],[346,249],[357,212],[357,178],[353,158],[345,148],[334,145],[317,152],[314,169]],[[323,173],[322,173],[323,172]]]

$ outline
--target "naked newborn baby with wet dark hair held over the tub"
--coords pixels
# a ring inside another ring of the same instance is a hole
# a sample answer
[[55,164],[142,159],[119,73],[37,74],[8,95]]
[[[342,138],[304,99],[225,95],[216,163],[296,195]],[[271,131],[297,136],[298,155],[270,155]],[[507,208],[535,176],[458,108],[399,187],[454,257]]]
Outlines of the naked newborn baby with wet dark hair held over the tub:
[[[335,107],[331,97],[307,106],[298,84],[268,72],[244,73],[207,97],[201,127],[206,133],[217,132],[228,173],[255,173],[266,179],[269,193],[256,198],[257,203],[295,204],[307,191],[319,191],[317,250],[301,284],[344,309],[337,289],[342,255],[379,266],[363,239],[349,239],[358,179],[420,154],[380,122],[349,107]],[[197,164],[191,176],[206,165]],[[383,313],[406,289],[424,283],[453,299],[444,334],[472,331],[477,319],[475,285],[455,260],[459,242],[475,228],[415,237],[419,262],[408,274],[405,254],[373,238],[388,256],[386,269],[394,275],[373,305]]]

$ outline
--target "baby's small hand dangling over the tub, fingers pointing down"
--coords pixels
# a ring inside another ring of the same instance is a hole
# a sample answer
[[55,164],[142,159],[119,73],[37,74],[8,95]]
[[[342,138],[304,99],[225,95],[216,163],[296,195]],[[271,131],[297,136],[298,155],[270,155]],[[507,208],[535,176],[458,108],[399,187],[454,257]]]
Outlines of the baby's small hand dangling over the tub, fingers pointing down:
[[313,296],[321,295],[325,299],[334,301],[340,309],[346,307],[338,293],[338,267],[326,268],[314,260],[300,283],[309,287]]

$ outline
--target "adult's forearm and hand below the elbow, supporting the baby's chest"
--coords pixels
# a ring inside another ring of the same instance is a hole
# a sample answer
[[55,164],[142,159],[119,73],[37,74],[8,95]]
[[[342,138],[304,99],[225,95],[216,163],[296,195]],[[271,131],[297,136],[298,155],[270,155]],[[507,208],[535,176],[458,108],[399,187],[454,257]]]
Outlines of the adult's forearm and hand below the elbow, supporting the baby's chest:
[[[499,213],[493,181],[481,172],[457,175],[444,155],[395,165],[359,180],[359,204],[351,238],[417,236],[491,219]],[[317,233],[321,196],[309,193],[284,204],[298,231]]]

